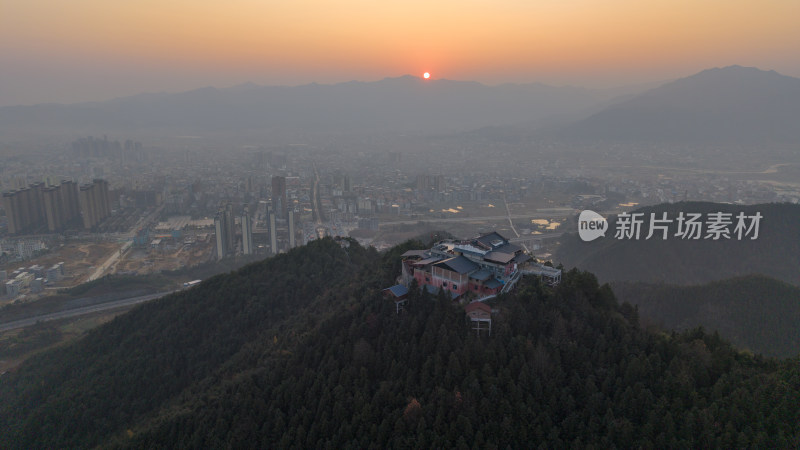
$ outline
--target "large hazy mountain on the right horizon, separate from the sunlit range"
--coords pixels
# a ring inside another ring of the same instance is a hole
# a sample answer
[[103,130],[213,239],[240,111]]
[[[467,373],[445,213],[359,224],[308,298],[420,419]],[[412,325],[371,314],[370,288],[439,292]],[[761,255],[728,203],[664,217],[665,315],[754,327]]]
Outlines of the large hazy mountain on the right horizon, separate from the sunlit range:
[[796,143],[800,79],[752,67],[709,69],[612,105],[562,137],[648,142]]

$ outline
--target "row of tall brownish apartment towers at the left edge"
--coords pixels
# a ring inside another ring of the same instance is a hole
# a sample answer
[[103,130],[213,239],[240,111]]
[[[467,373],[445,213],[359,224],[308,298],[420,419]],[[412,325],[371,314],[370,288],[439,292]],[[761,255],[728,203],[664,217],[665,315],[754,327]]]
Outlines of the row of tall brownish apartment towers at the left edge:
[[9,234],[39,230],[63,231],[78,224],[91,230],[111,215],[108,182],[95,179],[78,186],[72,180],[47,186],[44,182],[3,193]]

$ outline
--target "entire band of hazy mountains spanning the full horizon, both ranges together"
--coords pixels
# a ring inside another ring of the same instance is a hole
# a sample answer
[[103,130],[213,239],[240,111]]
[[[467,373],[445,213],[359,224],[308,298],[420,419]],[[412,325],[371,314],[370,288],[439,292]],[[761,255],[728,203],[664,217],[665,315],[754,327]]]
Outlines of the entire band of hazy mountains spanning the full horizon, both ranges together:
[[206,87],[0,108],[2,133],[451,133],[592,141],[792,143],[800,79],[731,66],[654,89],[487,86],[410,75],[296,87]]

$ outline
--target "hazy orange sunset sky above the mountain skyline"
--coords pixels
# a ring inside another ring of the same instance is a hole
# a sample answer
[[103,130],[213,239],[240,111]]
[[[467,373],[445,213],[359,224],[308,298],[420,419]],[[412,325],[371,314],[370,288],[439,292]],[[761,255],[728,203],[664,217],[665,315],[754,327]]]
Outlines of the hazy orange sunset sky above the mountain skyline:
[[0,0],[0,105],[431,72],[613,86],[800,77],[800,0]]

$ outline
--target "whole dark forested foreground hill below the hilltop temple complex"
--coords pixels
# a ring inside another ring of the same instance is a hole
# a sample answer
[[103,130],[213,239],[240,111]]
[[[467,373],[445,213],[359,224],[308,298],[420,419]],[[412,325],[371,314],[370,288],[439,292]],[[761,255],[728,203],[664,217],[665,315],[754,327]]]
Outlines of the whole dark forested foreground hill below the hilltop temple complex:
[[800,360],[643,331],[578,271],[497,298],[491,337],[444,296],[396,315],[380,287],[413,246],[315,242],[29,360],[0,447],[800,445]]

